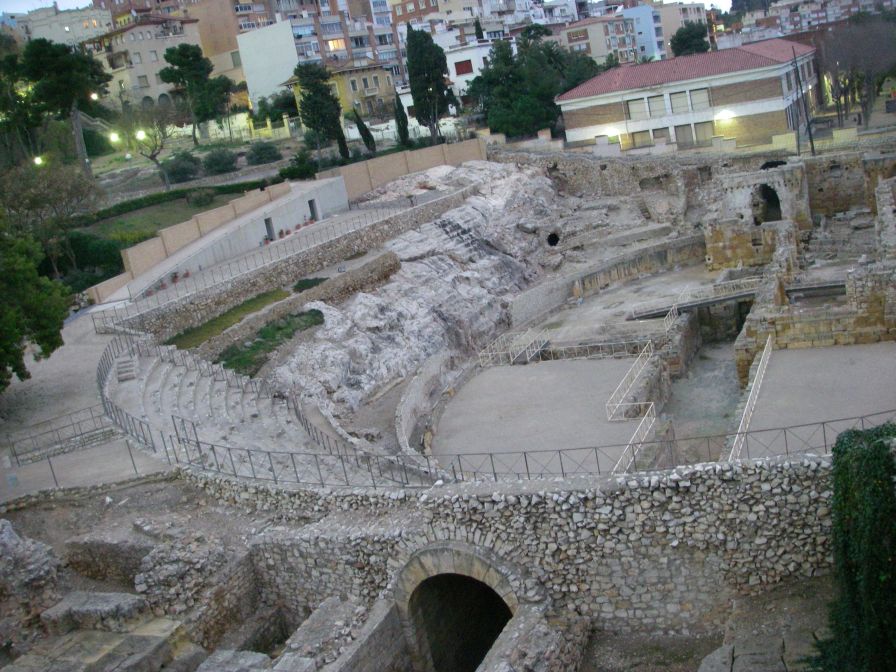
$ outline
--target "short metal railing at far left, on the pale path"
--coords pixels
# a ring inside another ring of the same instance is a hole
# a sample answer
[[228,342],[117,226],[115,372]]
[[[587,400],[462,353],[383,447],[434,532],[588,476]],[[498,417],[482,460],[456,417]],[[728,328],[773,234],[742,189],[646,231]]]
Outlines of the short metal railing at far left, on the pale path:
[[101,443],[114,434],[115,426],[98,404],[38,423],[24,432],[6,444],[17,466]]

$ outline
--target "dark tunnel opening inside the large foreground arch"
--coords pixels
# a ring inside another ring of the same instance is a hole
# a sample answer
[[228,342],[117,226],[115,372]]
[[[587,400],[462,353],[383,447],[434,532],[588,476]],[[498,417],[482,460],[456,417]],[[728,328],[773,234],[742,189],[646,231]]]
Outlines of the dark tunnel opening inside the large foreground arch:
[[475,672],[512,616],[494,590],[460,574],[426,579],[411,595],[409,612],[435,672]]

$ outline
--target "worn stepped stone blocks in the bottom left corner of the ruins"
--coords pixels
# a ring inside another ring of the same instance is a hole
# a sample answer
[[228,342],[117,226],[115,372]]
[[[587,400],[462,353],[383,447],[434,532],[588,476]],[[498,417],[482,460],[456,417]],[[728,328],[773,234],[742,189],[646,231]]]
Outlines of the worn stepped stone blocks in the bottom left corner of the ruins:
[[49,636],[2,672],[191,672],[207,655],[129,593],[69,593],[41,621]]

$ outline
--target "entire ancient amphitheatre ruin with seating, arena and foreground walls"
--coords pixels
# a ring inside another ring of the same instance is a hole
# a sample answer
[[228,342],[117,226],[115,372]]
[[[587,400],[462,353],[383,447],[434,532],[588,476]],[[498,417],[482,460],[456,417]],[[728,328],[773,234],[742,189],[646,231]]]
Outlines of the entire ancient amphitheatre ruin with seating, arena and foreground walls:
[[831,447],[896,416],[894,176],[471,140],[161,232],[0,400],[0,669],[801,669]]

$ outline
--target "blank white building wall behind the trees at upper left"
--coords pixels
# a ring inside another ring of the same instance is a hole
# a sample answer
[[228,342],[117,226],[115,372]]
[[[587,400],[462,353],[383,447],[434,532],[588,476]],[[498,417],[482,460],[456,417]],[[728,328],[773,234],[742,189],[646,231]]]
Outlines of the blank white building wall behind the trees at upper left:
[[243,74],[252,106],[261,98],[277,93],[292,77],[299,62],[292,24],[289,21],[237,35]]

